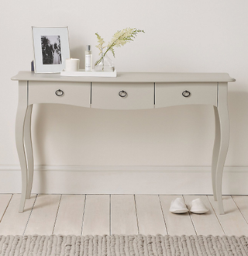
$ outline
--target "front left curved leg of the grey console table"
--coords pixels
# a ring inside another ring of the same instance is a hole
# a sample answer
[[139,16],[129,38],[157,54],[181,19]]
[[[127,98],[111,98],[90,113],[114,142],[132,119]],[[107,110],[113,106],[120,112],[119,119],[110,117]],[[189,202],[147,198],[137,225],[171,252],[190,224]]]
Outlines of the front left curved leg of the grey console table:
[[19,81],[19,103],[15,119],[15,144],[22,170],[22,196],[19,212],[23,212],[26,200],[27,164],[24,147],[24,123],[27,110],[27,85],[26,81]]

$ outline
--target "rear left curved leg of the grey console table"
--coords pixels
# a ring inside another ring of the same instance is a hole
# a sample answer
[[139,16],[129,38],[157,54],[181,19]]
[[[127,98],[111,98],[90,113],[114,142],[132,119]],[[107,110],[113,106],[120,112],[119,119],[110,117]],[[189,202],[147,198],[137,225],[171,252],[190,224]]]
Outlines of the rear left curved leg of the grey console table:
[[27,160],[27,191],[26,199],[30,198],[32,185],[33,185],[33,147],[31,140],[31,114],[33,105],[29,105],[26,111],[26,119],[24,123],[24,144],[26,149],[26,160]]

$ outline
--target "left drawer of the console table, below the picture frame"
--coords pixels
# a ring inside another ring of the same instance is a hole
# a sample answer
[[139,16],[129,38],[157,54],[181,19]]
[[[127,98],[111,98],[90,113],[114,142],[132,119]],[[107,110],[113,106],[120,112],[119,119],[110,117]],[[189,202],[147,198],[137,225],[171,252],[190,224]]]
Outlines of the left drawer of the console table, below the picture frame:
[[29,105],[60,103],[90,107],[91,83],[29,81]]

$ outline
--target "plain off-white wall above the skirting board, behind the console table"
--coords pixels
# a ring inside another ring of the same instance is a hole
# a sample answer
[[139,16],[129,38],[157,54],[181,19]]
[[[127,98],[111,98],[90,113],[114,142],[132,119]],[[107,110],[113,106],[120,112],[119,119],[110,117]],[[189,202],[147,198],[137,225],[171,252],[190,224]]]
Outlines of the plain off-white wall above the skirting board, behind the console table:
[[[248,170],[247,10],[246,0],[2,0],[0,167],[19,164],[18,86],[10,78],[29,70],[31,26],[68,26],[71,56],[81,59],[81,68],[86,44],[97,59],[95,33],[108,41],[117,29],[130,26],[146,33],[115,50],[117,71],[227,72],[236,78],[229,84],[226,165]],[[33,110],[38,165],[210,166],[213,140],[211,106],[128,112],[47,105]]]

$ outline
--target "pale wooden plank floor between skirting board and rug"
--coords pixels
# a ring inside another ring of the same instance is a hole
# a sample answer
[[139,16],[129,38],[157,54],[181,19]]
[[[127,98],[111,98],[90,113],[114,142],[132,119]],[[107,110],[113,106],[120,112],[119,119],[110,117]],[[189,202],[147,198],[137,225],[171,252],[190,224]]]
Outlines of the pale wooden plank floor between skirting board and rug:
[[[201,198],[206,214],[169,212],[177,197]],[[0,194],[0,235],[169,234],[248,236],[248,195],[32,195],[18,213],[19,194]]]

